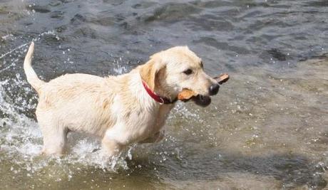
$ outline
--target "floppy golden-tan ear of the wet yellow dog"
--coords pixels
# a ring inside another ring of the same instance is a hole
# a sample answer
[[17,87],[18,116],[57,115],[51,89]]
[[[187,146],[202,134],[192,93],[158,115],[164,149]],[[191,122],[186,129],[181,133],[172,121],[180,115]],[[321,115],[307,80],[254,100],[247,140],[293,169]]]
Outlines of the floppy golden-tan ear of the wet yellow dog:
[[156,76],[163,68],[165,68],[165,64],[155,55],[151,56],[147,63],[141,65],[139,70],[141,79],[148,85],[150,90],[155,89]]

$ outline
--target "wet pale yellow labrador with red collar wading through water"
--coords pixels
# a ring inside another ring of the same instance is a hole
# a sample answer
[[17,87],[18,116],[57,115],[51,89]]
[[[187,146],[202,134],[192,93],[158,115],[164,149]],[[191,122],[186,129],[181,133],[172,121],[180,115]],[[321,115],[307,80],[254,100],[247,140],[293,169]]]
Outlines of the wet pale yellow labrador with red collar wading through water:
[[188,89],[208,98],[219,89],[187,46],[155,53],[123,75],[66,74],[48,83],[31,67],[33,53],[32,42],[24,70],[39,94],[36,117],[44,154],[63,154],[70,131],[100,137],[108,157],[117,156],[128,144],[158,142],[178,93]]

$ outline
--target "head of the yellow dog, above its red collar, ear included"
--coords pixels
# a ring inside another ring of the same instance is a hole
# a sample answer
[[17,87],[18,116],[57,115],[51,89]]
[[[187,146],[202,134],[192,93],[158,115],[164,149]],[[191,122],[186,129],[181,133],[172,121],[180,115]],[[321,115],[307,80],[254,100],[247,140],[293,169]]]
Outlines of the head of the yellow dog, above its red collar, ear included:
[[156,94],[175,99],[184,89],[192,90],[210,104],[219,85],[203,70],[203,62],[187,46],[177,46],[150,56],[140,66],[140,76]]

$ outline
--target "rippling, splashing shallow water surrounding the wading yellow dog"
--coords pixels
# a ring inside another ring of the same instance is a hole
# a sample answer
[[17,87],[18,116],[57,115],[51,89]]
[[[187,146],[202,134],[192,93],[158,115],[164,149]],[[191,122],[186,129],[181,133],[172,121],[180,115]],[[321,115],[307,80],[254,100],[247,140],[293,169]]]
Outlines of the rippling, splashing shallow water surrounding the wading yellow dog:
[[[327,188],[327,15],[324,0],[1,1],[1,189]],[[231,79],[205,109],[178,103],[163,142],[116,162],[83,134],[44,157],[22,68],[30,41],[44,80],[126,73],[177,45]]]

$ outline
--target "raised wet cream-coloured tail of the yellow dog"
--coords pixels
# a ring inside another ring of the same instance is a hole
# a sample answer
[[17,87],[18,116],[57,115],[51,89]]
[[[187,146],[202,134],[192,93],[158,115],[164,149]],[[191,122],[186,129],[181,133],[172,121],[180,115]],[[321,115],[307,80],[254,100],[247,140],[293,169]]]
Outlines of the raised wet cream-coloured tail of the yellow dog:
[[36,90],[36,92],[40,93],[41,87],[44,85],[44,81],[38,78],[38,75],[34,72],[31,61],[34,53],[34,42],[32,41],[29,51],[27,51],[25,60],[24,60],[24,70],[26,74],[27,81],[30,85]]

